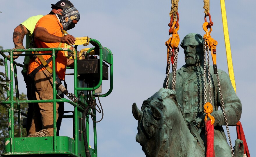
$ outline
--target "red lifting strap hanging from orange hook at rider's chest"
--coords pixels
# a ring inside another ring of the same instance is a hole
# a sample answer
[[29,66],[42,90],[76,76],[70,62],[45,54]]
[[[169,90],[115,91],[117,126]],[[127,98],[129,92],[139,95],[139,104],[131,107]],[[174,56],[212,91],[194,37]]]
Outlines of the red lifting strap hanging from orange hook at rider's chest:
[[205,121],[206,129],[206,157],[215,157],[214,152],[214,127],[211,125],[211,121]]

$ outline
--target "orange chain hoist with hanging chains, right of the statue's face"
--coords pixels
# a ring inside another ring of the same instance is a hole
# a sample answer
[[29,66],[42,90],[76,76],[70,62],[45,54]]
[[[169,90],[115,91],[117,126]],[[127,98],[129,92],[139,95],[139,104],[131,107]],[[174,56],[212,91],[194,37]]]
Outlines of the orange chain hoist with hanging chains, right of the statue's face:
[[[210,22],[207,22],[206,20],[206,15],[205,15],[205,23],[203,23],[203,30],[205,31],[206,34],[204,34],[203,39],[204,39],[204,53],[207,53],[207,70],[208,70],[208,87],[209,87],[209,99],[211,101],[211,76],[210,76],[210,63],[209,63],[209,50],[211,51],[211,57],[212,57],[212,62],[213,62],[213,70],[214,70],[214,74],[216,74],[216,78],[217,78],[217,83],[218,83],[218,89],[219,89],[219,93],[220,93],[220,101],[221,101],[221,107],[222,107],[222,112],[224,115],[224,121],[225,121],[225,125],[226,125],[226,129],[227,129],[227,136],[228,136],[228,140],[229,140],[229,145],[230,145],[230,150],[231,150],[231,154],[232,157],[234,157],[234,152],[233,152],[233,147],[232,147],[232,143],[231,143],[231,138],[230,138],[230,132],[229,132],[229,128],[228,128],[228,123],[227,123],[227,116],[226,116],[226,112],[225,112],[225,106],[224,106],[224,102],[223,102],[223,97],[222,97],[222,93],[221,93],[221,84],[220,84],[220,80],[219,80],[219,76],[218,76],[218,70],[217,70],[217,65],[216,65],[216,45],[218,44],[218,42],[216,40],[214,40],[211,37],[211,26],[213,25],[213,22],[211,21],[211,15],[208,12],[208,16],[209,16],[209,20]],[[209,31],[208,31],[209,29]],[[204,61],[206,61],[206,54],[204,54]],[[204,85],[206,86],[206,63],[204,63],[204,71],[205,71],[205,83]],[[204,89],[206,90],[206,87],[204,87]],[[204,94],[206,94],[206,91],[204,92]],[[204,96],[204,100],[206,102],[206,96]],[[210,102],[211,104],[211,102]],[[205,106],[208,105],[208,102],[205,103]]]

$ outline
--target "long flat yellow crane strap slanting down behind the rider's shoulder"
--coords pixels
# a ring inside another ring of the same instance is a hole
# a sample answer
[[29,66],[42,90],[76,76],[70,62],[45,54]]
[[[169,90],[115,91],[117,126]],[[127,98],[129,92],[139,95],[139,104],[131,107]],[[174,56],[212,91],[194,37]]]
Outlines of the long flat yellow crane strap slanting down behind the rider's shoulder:
[[229,41],[229,35],[228,35],[228,28],[227,28],[227,15],[226,15],[225,0],[220,0],[220,1],[221,1],[221,15],[222,15],[222,23],[223,23],[223,32],[224,32],[226,54],[227,54],[228,74],[229,74],[232,86],[233,86],[235,92],[237,92],[233,63],[232,63],[232,55],[231,55],[231,49],[230,49],[230,41]]

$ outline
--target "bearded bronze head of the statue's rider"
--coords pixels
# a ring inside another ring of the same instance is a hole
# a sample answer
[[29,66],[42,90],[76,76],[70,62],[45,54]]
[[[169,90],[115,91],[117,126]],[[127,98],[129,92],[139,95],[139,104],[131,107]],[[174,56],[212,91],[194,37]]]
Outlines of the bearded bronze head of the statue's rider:
[[203,38],[200,34],[187,34],[180,46],[184,49],[186,64],[194,65],[203,60]]

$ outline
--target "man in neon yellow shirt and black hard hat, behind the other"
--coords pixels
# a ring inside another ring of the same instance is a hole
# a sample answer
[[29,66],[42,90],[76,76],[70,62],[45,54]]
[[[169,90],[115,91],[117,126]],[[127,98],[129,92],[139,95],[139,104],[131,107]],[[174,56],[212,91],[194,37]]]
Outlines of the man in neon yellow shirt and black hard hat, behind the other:
[[[65,9],[67,7],[70,7],[70,6],[73,7],[74,5],[68,0],[58,1],[56,4],[51,4],[52,10],[49,14],[60,13],[63,9]],[[13,43],[15,45],[14,49],[23,49],[24,48],[23,39],[24,39],[25,35],[26,35],[26,48],[34,48],[33,47],[33,42],[32,42],[33,31],[35,29],[36,23],[38,22],[38,20],[41,17],[43,17],[43,15],[37,15],[37,16],[30,17],[14,29],[14,32],[13,32]],[[22,52],[13,52],[13,53],[14,54],[21,54]],[[25,52],[25,54],[29,54],[29,53],[31,53],[31,52]],[[13,56],[13,59],[17,59],[17,58],[18,58],[18,56]],[[23,75],[24,81],[26,83],[28,100],[36,100],[36,98],[35,98],[35,87],[33,85],[34,84],[33,80],[31,79],[30,76],[27,75],[29,61],[30,61],[30,57],[25,56],[24,57],[24,67],[23,67],[23,70],[22,70],[22,75]],[[33,106],[34,106],[34,103],[29,103],[28,112],[27,112],[28,116],[26,118],[27,134],[29,134],[29,129],[30,129],[30,126],[31,126],[31,121],[32,121],[32,116],[33,116]],[[57,136],[59,136],[61,121],[62,121],[62,117],[63,117],[63,114],[64,114],[64,103],[59,104],[58,113],[59,113],[59,117],[58,117],[58,120],[57,120]],[[37,115],[40,116],[40,112],[38,112]],[[38,126],[40,126],[40,124]]]

